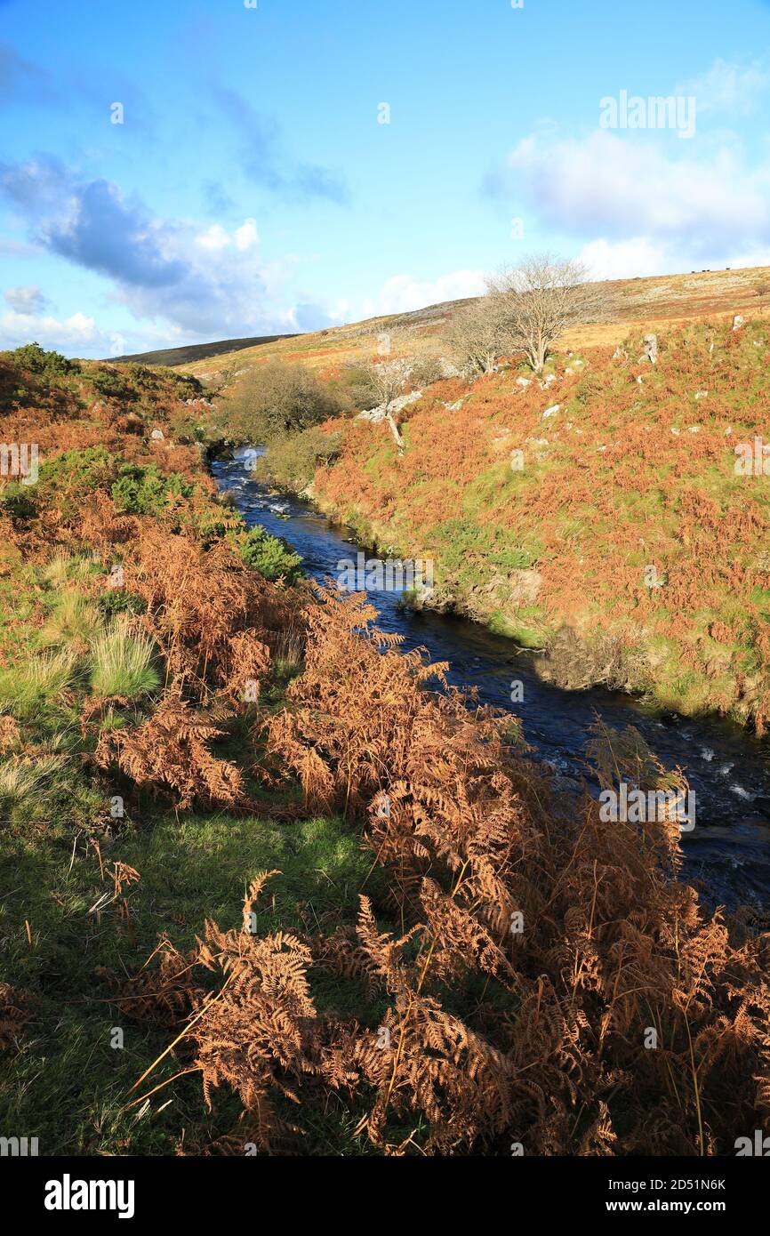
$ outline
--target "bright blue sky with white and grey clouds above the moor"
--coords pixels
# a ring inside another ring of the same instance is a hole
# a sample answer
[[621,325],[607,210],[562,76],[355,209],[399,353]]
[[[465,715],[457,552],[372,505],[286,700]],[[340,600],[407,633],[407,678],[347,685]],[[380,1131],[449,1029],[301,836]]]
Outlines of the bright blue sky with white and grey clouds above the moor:
[[0,347],[770,265],[769,119],[768,0],[0,0]]

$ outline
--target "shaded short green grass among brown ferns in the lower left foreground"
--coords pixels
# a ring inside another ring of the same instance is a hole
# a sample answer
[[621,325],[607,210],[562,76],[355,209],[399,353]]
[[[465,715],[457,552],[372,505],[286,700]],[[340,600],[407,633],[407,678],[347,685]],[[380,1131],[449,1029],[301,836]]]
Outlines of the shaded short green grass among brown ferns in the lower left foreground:
[[[35,831],[0,833],[4,979],[30,994],[32,1011],[19,1051],[0,1057],[0,1131],[38,1137],[41,1154],[171,1154],[184,1128],[188,1142],[193,1131],[203,1142],[227,1132],[237,1103],[218,1091],[208,1112],[200,1082],[190,1075],[161,1090],[147,1110],[126,1109],[138,1094],[130,1094],[131,1086],[174,1033],[122,1016],[104,971],[136,973],[161,932],[187,949],[206,917],[222,928],[240,926],[243,892],[260,870],[283,873],[257,905],[260,933],[313,933],[353,921],[358,891],[366,886],[377,901],[382,876],[368,875],[371,853],[340,819],[276,824],[224,813],[178,819],[168,811],[145,817],[141,827],[126,824],[116,843],[103,840],[101,849],[105,863],[121,860],[141,873],[125,890],[131,929],[114,907],[89,913],[111,885],[101,883],[83,832],[51,819]],[[384,1011],[367,1007],[355,981],[324,971],[310,978],[319,1011],[334,1007],[374,1023]],[[112,1027],[124,1030],[122,1049],[110,1047]],[[172,1053],[142,1093],[183,1060]],[[297,1119],[295,1110],[292,1115]],[[356,1120],[334,1100],[325,1112],[308,1112],[308,1153],[366,1153],[363,1142],[352,1140]]]

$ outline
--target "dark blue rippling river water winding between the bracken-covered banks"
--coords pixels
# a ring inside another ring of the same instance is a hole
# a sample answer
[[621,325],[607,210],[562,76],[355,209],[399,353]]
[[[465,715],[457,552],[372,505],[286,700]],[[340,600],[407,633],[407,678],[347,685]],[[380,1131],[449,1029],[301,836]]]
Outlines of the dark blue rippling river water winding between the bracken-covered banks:
[[[331,524],[311,503],[276,494],[251,477],[255,451],[236,451],[211,465],[222,492],[232,494],[246,523],[283,536],[303,557],[308,575],[337,577],[344,559],[358,546],[345,527]],[[682,836],[685,875],[712,904],[750,902],[770,908],[770,745],[730,722],[664,714],[622,692],[601,688],[562,691],[536,674],[538,654],[523,651],[484,627],[444,614],[414,613],[398,593],[371,592],[383,630],[398,632],[403,648],[425,648],[434,661],[449,661],[456,686],[475,686],[483,703],[517,716],[530,758],[556,775],[596,781],[586,759],[597,714],[606,726],[635,726],[666,765],[679,765],[696,794],[697,823]],[[512,703],[512,682],[523,684]],[[763,801],[765,800],[765,801]]]

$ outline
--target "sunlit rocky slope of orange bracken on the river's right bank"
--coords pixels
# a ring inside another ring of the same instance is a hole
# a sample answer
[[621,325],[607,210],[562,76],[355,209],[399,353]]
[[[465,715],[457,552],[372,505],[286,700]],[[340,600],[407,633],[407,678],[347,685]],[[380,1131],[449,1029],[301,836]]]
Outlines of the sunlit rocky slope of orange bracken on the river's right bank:
[[[761,733],[770,713],[770,415],[764,321],[671,330],[434,383],[383,425],[337,419],[319,507],[365,544],[435,561],[426,603],[606,684]],[[749,457],[750,456],[750,457]],[[304,488],[304,486],[303,486]]]

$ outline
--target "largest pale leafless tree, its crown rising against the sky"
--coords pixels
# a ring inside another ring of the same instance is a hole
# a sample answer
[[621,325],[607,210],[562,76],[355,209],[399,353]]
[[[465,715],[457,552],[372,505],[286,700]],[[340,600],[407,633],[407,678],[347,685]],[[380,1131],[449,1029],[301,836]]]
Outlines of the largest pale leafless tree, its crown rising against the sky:
[[580,262],[534,255],[487,283],[497,304],[506,351],[522,351],[540,373],[552,345],[567,326],[594,321],[607,307],[598,284]]

